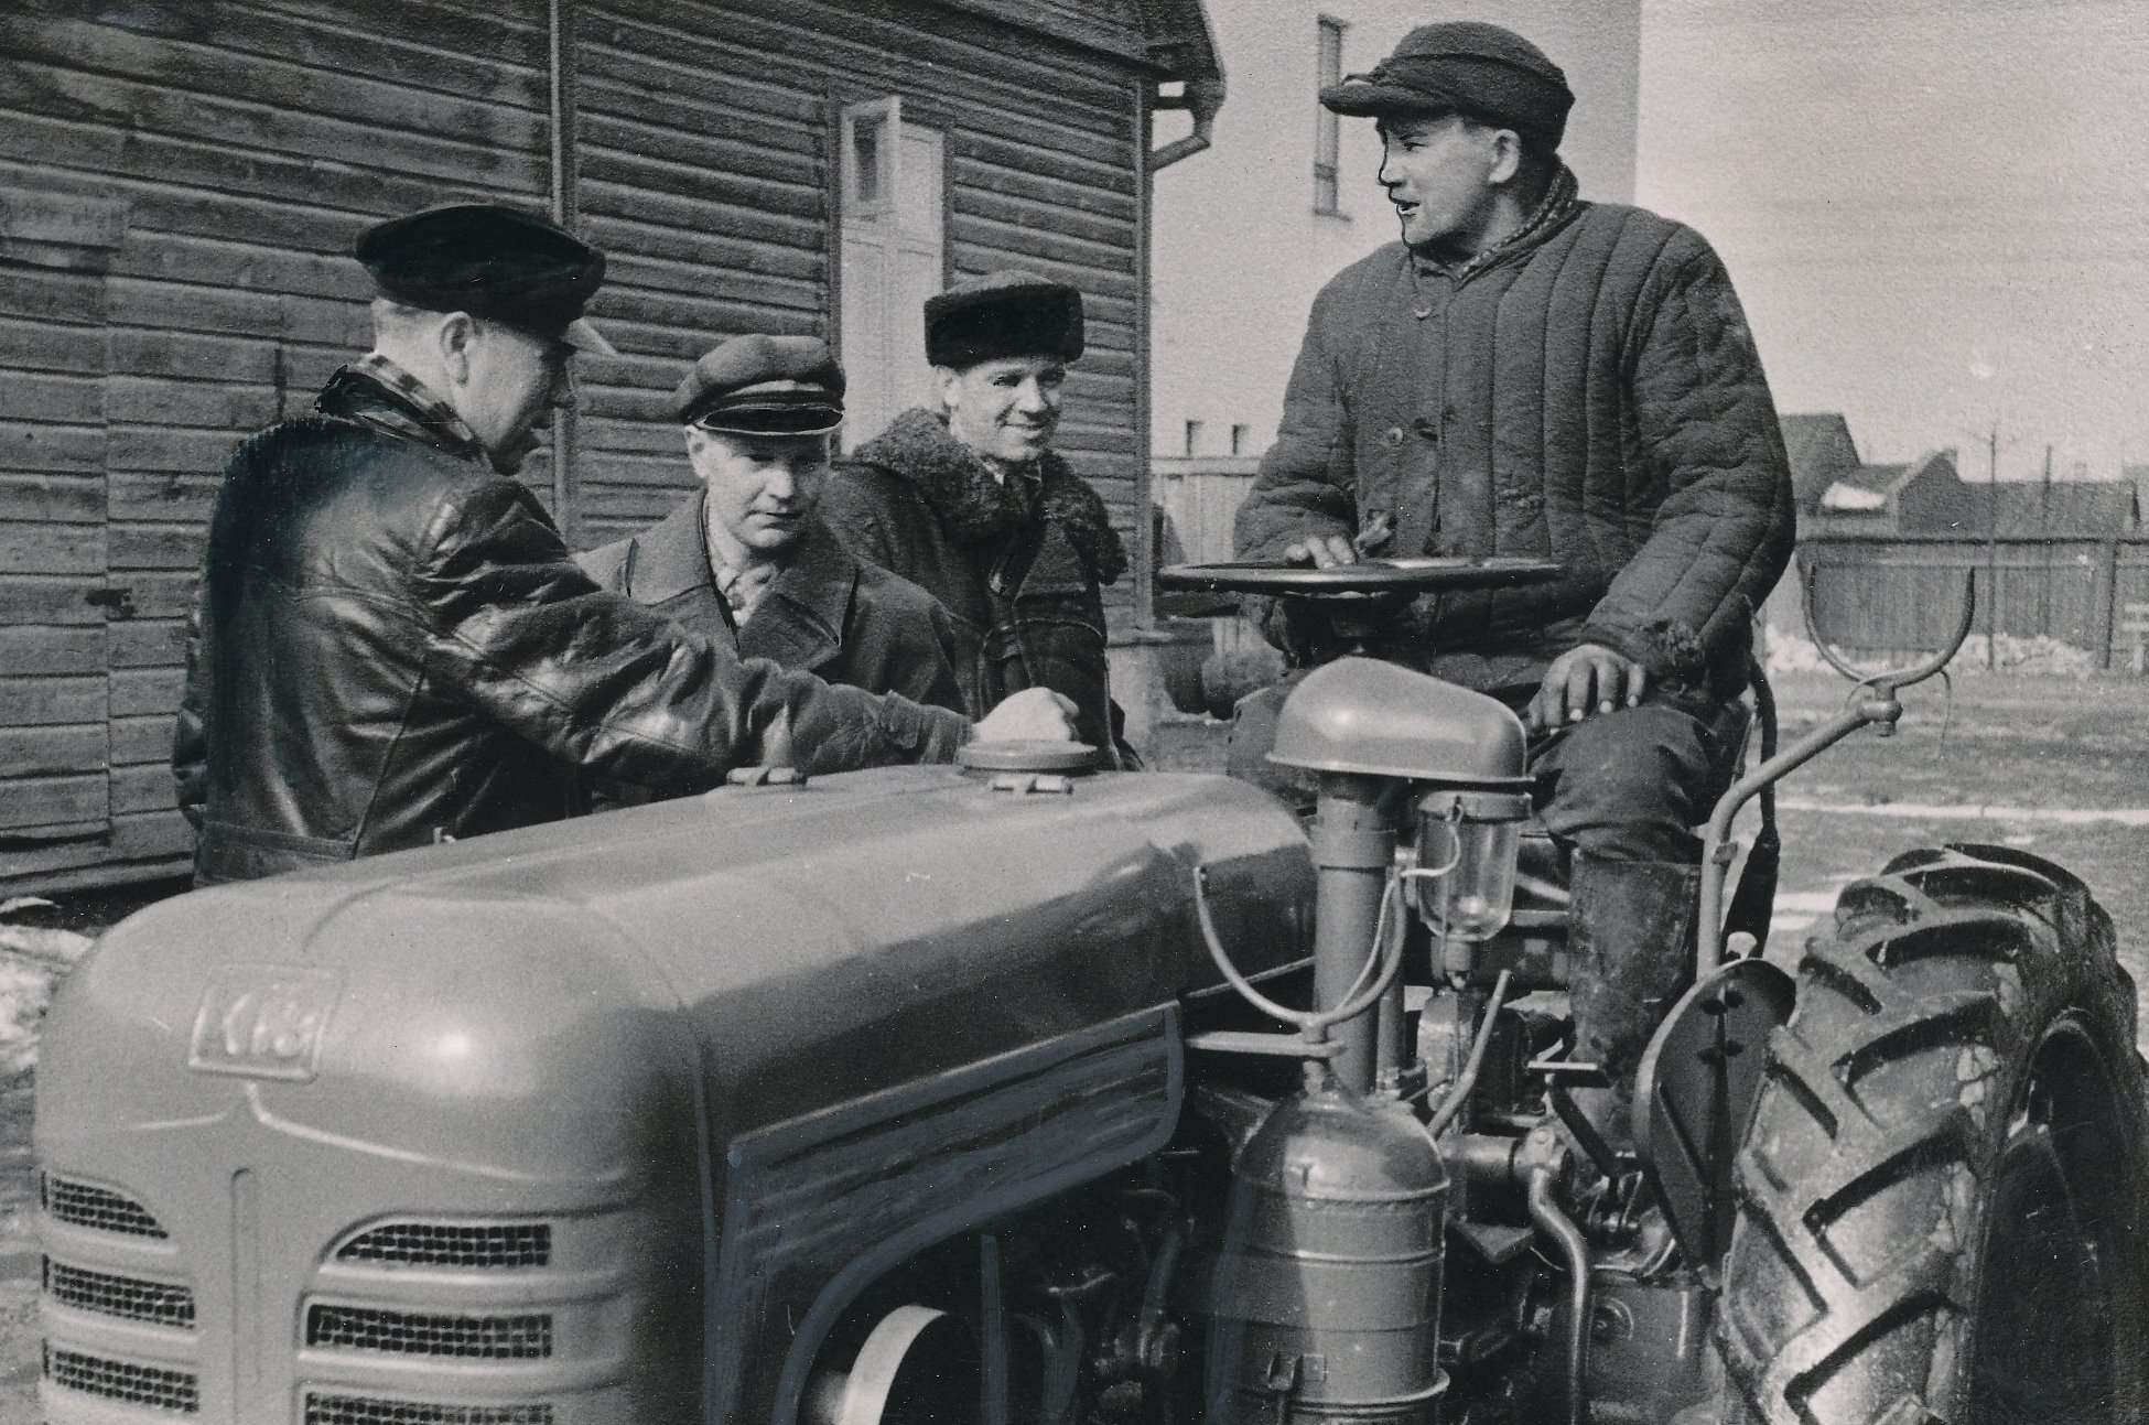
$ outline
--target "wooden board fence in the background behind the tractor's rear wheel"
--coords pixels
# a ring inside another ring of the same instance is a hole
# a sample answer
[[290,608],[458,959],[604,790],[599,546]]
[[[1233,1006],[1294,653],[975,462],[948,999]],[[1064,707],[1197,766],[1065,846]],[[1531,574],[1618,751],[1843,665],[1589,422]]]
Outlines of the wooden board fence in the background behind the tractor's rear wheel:
[[[1799,542],[1799,572],[1814,580],[1814,619],[1831,645],[1852,656],[1902,656],[1945,640],[1953,632],[1964,570],[1977,572],[1973,634],[2044,634],[2087,649],[2100,668],[2132,660],[2125,606],[2149,602],[2149,537],[1814,535]],[[1782,625],[1786,619],[1777,613],[1771,621]],[[1788,621],[1797,625],[1797,604]]]

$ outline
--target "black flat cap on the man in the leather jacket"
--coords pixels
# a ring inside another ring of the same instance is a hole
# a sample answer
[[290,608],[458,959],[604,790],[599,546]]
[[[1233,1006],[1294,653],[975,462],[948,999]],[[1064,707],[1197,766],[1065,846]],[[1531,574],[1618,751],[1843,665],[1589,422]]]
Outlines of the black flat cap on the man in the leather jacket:
[[492,202],[391,217],[352,256],[380,294],[428,312],[468,312],[580,350],[617,355],[582,307],[604,282],[604,254],[565,228]]

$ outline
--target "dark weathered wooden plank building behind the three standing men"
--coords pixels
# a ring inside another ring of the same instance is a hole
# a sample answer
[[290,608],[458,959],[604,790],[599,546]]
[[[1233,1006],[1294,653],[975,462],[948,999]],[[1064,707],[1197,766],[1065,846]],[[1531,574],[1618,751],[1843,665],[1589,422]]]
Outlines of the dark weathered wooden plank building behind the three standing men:
[[864,438],[918,395],[926,292],[1077,284],[1062,447],[1143,555],[1113,591],[1139,640],[1176,82],[1221,95],[1199,0],[0,11],[0,888],[185,866],[165,757],[217,473],[367,344],[352,239],[441,202],[552,211],[612,256],[591,316],[623,355],[527,471],[578,546],[690,486],[666,398],[713,342],[836,340]]

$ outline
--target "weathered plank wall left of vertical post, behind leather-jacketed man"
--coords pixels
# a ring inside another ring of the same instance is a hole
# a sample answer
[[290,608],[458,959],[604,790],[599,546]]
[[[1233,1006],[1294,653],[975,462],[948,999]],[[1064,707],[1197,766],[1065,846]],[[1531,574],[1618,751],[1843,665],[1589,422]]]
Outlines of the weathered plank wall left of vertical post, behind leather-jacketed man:
[[[95,372],[95,389],[73,378],[80,419],[60,454],[26,462],[19,441],[0,445],[0,481],[71,462],[88,479],[41,509],[84,516],[73,539],[105,544],[107,570],[92,574],[86,550],[6,559],[0,608],[11,668],[99,683],[105,705],[67,716],[110,729],[110,802],[97,808],[110,827],[73,840],[19,830],[0,843],[0,883],[110,879],[187,855],[168,757],[217,471],[245,432],[305,408],[363,350],[367,286],[346,254],[367,224],[464,198],[542,206],[550,185],[544,0],[116,6],[125,28],[88,13],[0,13],[0,187],[125,211],[95,284],[0,275],[15,333],[0,387],[21,391],[28,363]],[[17,355],[24,322],[54,322],[34,355]],[[542,469],[533,479],[550,488]],[[64,621],[26,610],[39,578],[82,585],[47,589]],[[105,582],[112,617],[80,602]],[[92,664],[110,677],[92,679]],[[0,761],[0,802],[26,769]]]

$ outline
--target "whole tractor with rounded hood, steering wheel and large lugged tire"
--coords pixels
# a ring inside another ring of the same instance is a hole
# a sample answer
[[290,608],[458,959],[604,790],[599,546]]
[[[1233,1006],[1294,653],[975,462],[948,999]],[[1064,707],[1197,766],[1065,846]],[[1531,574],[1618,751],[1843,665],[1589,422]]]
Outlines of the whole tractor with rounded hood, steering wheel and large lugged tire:
[[[1541,576],[1165,582],[1343,628]],[[1788,748],[1758,686],[1631,1143],[1521,724],[1347,649],[1274,720],[1302,810],[971,744],[155,905],[47,1027],[45,1419],[2145,1421],[2087,888],[1913,851],[1769,944],[1769,789],[1951,651]]]

